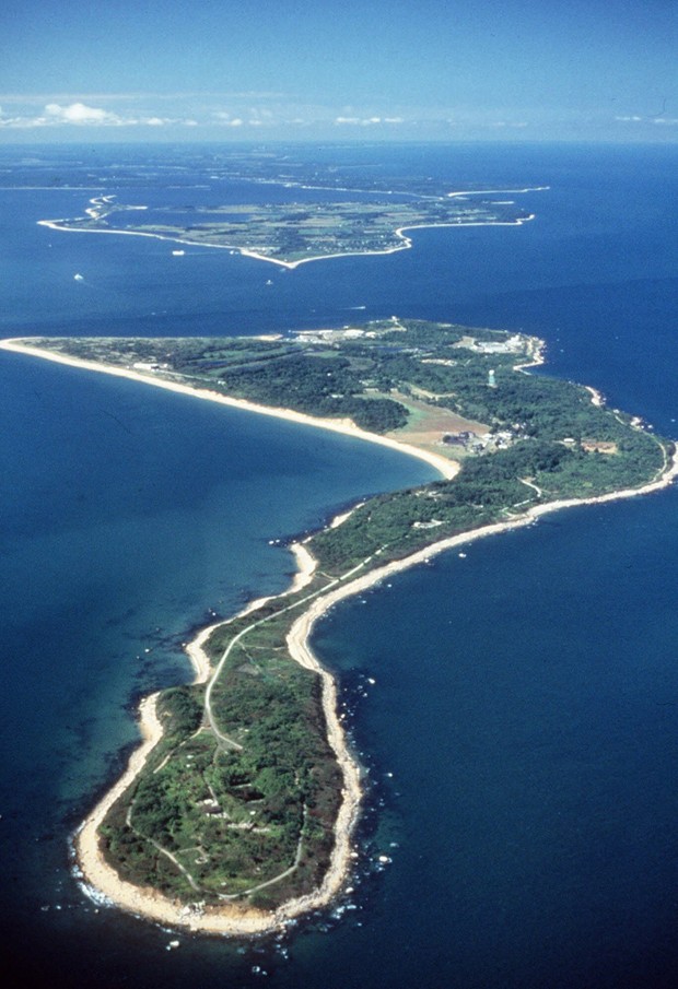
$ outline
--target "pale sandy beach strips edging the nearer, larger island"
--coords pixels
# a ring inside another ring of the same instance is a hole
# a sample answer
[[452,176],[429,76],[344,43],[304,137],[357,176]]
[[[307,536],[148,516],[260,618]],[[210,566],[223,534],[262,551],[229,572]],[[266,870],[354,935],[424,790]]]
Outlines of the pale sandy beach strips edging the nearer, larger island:
[[[26,342],[25,338],[22,340],[0,341],[0,349],[56,361],[61,364],[68,364],[87,370],[127,377],[132,380],[190,395],[203,400],[218,401],[222,404],[232,405],[246,411],[331,429],[371,443],[379,443],[428,461],[445,478],[454,476],[458,470],[456,463],[442,456],[418,449],[408,444],[401,444],[393,439],[366,433],[365,431],[356,428],[350,422],[316,419],[301,413],[289,412],[284,409],[256,405],[238,399],[230,399],[215,392],[208,391],[207,389],[197,389],[186,385],[162,380],[136,370],[117,368],[81,358],[67,357],[40,348],[32,346]],[[597,399],[597,393],[593,392],[592,400],[596,401]],[[361,577],[346,584],[340,584],[338,587],[335,585],[332,589],[328,589],[326,592],[318,594],[313,600],[313,603],[311,603],[311,605],[294,621],[287,639],[289,652],[296,662],[306,669],[315,671],[320,678],[323,708],[326,718],[328,740],[343,776],[342,799],[335,823],[335,847],[331,853],[330,864],[322,884],[314,892],[295,899],[290,899],[271,913],[237,904],[229,904],[227,906],[221,907],[203,905],[186,906],[161,895],[153,888],[142,888],[125,882],[119,878],[117,872],[107,864],[100,847],[97,829],[113,803],[133,782],[142,770],[149,753],[162,737],[163,729],[156,715],[157,694],[145,697],[140,704],[139,728],[142,743],[132,753],[125,774],[115,786],[105,793],[75,835],[77,858],[79,867],[82,870],[84,880],[83,886],[85,891],[89,892],[90,895],[98,899],[103,898],[124,910],[168,927],[185,928],[206,934],[233,937],[270,933],[284,928],[290,921],[311,910],[325,907],[341,891],[353,863],[353,856],[355,852],[352,847],[352,836],[360,810],[362,791],[360,767],[347,745],[346,735],[337,715],[336,683],[331,674],[322,667],[309,645],[311,635],[316,622],[339,601],[353,594],[364,592],[369,588],[378,585],[387,577],[401,573],[412,566],[425,563],[431,557],[447,550],[466,545],[477,539],[531,525],[542,515],[562,508],[598,504],[659,491],[661,488],[668,486],[677,474],[678,452],[674,452],[670,458],[665,458],[664,466],[657,476],[642,487],[627,488],[587,498],[569,498],[536,505],[527,509],[523,515],[510,520],[486,525],[481,528],[440,540],[402,560],[394,561],[393,563],[373,569]],[[346,518],[346,516],[336,519],[331,525],[340,523],[343,518]],[[306,546],[304,544],[295,544],[292,546],[292,552],[296,558],[297,573],[292,586],[280,597],[300,590],[309,582],[313,576],[315,561]],[[267,600],[270,599],[262,598],[253,601],[238,615],[227,619],[225,622],[218,622],[203,628],[186,647],[186,651],[196,671],[195,683],[207,682],[212,672],[210,661],[203,651],[203,644],[214,628],[229,624],[244,614],[256,611]]]

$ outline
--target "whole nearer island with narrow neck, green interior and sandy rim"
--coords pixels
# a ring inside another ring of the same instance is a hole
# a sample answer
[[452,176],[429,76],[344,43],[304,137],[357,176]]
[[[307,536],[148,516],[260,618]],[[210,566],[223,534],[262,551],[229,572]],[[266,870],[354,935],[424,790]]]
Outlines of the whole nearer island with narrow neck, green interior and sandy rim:
[[258,338],[27,338],[0,346],[338,429],[441,479],[370,497],[292,546],[299,573],[187,647],[196,678],[144,699],[144,741],[77,836],[84,881],[124,909],[252,935],[347,884],[362,781],[315,623],[340,600],[545,513],[658,490],[676,447],[543,343],[396,316]]

